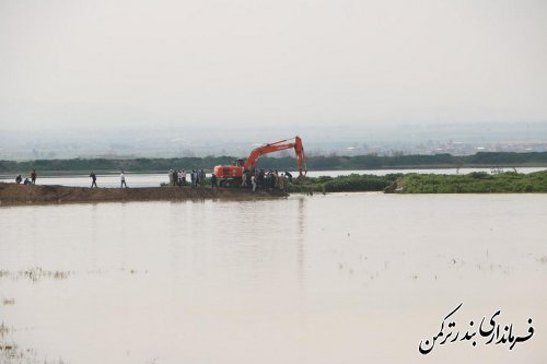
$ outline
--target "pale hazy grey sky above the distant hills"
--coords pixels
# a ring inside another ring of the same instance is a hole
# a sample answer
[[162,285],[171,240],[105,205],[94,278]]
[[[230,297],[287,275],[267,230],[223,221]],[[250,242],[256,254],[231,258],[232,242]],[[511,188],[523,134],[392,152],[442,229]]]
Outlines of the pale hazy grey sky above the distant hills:
[[547,1],[0,0],[3,127],[546,121]]

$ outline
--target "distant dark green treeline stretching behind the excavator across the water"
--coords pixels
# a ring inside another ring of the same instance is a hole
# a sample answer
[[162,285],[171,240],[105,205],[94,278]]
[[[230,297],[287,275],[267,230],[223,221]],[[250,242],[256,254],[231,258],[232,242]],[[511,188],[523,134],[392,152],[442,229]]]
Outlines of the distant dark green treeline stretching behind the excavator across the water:
[[[37,169],[42,175],[56,173],[108,173],[127,171],[133,173],[165,172],[168,169],[203,168],[212,171],[216,165],[229,165],[232,156],[178,157],[178,158],[73,158],[37,161],[0,161],[0,174],[26,174]],[[456,167],[519,167],[547,166],[547,152],[509,153],[479,152],[474,155],[358,155],[358,156],[309,156],[309,171],[328,169],[389,169],[389,168],[456,168]],[[294,157],[268,157],[258,160],[261,168],[294,171]]]

